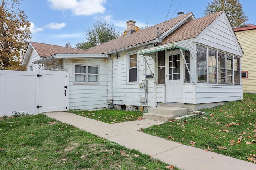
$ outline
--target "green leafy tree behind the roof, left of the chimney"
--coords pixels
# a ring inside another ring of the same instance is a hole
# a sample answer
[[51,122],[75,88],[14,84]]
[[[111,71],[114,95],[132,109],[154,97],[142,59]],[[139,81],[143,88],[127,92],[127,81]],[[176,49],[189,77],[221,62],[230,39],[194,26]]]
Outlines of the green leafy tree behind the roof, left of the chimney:
[[86,30],[86,40],[75,45],[78,49],[88,49],[101,43],[120,37],[120,33],[116,32],[114,25],[108,22],[97,21],[93,24],[93,28]]

